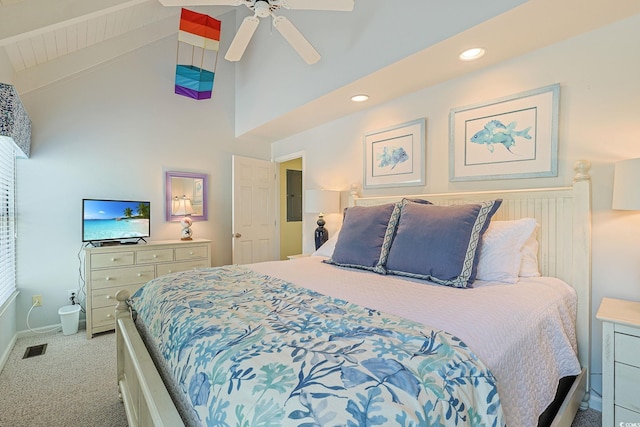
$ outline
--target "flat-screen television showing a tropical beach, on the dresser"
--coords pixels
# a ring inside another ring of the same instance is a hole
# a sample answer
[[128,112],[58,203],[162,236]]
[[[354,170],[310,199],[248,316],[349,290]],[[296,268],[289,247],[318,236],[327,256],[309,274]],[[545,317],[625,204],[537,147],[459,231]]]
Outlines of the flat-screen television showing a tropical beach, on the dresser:
[[150,213],[147,201],[83,199],[82,241],[137,243],[151,236]]

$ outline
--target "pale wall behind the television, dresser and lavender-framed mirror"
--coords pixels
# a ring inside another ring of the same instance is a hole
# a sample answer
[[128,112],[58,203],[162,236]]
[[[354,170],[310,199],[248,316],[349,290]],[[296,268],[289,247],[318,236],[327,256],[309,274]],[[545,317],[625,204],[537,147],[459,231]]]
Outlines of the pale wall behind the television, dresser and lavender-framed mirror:
[[209,175],[209,220],[194,222],[194,237],[213,240],[214,265],[231,262],[231,155],[269,158],[270,148],[233,136],[233,64],[218,61],[212,99],[173,93],[176,46],[163,39],[21,96],[33,143],[18,162],[18,330],[32,295],[44,306],[31,326],[50,325],[78,286],[82,198],[150,200],[152,239],[180,237],[164,219],[166,171]]

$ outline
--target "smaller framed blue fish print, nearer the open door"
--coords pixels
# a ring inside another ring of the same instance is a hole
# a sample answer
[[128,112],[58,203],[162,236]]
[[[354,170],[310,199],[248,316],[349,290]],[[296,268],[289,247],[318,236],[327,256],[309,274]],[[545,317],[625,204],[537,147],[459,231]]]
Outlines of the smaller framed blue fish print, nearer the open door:
[[425,185],[425,122],[364,134],[364,188]]

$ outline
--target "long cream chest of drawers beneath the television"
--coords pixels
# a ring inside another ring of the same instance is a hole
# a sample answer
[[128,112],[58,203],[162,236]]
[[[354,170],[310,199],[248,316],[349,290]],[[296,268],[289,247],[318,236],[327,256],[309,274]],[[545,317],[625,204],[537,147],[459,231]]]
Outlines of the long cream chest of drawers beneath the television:
[[211,266],[211,241],[164,240],[85,248],[87,338],[115,328],[116,292],[133,294],[149,280]]

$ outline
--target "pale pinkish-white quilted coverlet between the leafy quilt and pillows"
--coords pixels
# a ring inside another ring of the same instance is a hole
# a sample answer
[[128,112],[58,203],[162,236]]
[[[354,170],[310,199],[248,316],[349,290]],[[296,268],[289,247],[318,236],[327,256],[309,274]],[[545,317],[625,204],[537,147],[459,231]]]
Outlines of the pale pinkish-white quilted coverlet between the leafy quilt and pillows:
[[472,289],[382,276],[322,263],[321,256],[251,264],[256,272],[442,329],[491,369],[507,425],[536,426],[558,380],[580,373],[573,288],[551,277]]

